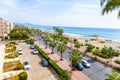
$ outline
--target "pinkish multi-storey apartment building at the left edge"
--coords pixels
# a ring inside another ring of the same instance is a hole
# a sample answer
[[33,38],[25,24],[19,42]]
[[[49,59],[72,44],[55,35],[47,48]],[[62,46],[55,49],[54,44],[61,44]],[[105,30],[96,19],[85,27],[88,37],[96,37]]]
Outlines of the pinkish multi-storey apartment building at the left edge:
[[7,36],[13,29],[13,23],[0,18],[0,38]]

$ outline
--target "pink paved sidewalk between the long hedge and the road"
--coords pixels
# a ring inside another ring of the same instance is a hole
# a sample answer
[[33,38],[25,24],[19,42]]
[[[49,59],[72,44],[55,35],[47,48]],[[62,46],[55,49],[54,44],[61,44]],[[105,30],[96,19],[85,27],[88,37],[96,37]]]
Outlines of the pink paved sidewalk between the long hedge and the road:
[[[67,63],[67,61],[64,59],[63,61],[60,61],[60,56],[58,56],[57,54],[50,54],[51,50],[49,48],[45,49],[45,46],[41,45],[38,41],[35,42],[36,44],[38,44],[38,46],[47,54],[49,54],[48,56],[56,61],[56,63],[63,69],[66,70],[68,72],[70,72],[71,68],[69,66],[69,64]],[[82,72],[80,71],[72,71],[72,79],[71,80],[89,80],[89,78],[84,75]]]

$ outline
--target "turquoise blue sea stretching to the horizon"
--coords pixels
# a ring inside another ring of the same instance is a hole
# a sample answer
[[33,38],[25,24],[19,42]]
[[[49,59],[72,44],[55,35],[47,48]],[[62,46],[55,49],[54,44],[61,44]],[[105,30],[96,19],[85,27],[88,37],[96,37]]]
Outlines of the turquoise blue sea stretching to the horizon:
[[[43,25],[33,25],[33,24],[24,24],[30,28],[36,28],[41,30],[48,30],[53,32],[53,28],[56,26],[43,26]],[[120,42],[120,29],[112,28],[86,28],[86,27],[66,27],[66,26],[57,26],[64,30],[64,33],[68,34],[77,34],[85,37],[95,37],[99,36],[106,40],[113,40]]]

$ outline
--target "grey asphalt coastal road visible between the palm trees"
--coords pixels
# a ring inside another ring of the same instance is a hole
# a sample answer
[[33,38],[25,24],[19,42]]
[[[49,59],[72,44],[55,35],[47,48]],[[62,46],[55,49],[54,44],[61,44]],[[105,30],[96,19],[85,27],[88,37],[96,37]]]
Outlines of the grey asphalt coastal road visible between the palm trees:
[[[40,44],[45,45],[43,39],[40,36],[35,35],[35,38],[39,41]],[[50,48],[50,47],[48,46],[48,48]],[[60,56],[60,53],[57,52],[56,48],[54,49],[54,51],[57,55]],[[71,50],[67,49],[66,52],[63,54],[63,58],[66,59],[66,61],[68,61],[68,63],[70,63],[70,61],[69,61],[69,55],[71,54],[70,52],[71,52]],[[84,68],[82,70],[82,72],[86,76],[88,76],[90,78],[90,80],[105,80],[106,79],[105,74],[111,73],[111,68],[105,67],[103,64],[101,64],[93,59],[90,59],[88,57],[83,57],[83,59],[87,60],[91,64],[90,68]]]

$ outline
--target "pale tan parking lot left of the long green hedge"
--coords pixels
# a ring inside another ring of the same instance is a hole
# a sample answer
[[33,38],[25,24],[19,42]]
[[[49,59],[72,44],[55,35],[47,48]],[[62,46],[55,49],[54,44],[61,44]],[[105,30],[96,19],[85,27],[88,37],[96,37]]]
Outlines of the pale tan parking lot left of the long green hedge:
[[43,67],[40,55],[33,54],[33,49],[30,49],[29,44],[19,43],[17,48],[23,50],[23,54],[19,56],[20,61],[22,63],[28,61],[31,66],[30,70],[25,70],[28,74],[28,80],[57,80],[56,73],[51,67]]

